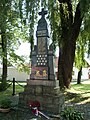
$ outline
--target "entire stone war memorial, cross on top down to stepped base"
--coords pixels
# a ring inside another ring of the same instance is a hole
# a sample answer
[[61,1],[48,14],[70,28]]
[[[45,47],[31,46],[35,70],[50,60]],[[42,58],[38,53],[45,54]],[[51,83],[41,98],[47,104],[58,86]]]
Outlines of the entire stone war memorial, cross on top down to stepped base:
[[48,27],[45,20],[47,11],[39,12],[36,38],[32,51],[30,79],[24,92],[19,95],[19,104],[38,101],[40,109],[52,114],[59,114],[64,105],[64,95],[60,91],[59,81],[55,80],[53,45],[48,45]]

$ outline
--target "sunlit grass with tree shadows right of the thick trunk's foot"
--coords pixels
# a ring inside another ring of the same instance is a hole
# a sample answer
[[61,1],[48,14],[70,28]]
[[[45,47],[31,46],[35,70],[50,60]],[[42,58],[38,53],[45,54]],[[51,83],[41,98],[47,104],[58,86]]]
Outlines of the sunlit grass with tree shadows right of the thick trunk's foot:
[[90,84],[72,84],[65,95],[67,103],[90,103]]

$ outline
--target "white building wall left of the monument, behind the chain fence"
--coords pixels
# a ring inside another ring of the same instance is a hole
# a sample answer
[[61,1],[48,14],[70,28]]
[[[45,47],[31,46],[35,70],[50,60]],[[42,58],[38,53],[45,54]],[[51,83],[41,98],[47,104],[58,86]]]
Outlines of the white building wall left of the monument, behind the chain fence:
[[[2,67],[0,67],[0,76],[2,75]],[[16,81],[26,81],[29,75],[25,72],[18,71],[15,67],[8,67],[7,80],[13,80],[15,78]]]

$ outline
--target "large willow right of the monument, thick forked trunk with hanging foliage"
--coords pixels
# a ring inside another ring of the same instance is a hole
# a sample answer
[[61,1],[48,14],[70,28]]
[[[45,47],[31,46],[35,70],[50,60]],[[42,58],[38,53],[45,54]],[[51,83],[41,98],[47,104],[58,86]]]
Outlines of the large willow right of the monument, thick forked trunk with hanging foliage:
[[[56,9],[56,6],[58,9]],[[58,4],[54,4],[52,7],[52,31],[53,40],[57,40],[59,46],[58,79],[61,88],[64,86],[68,88],[71,82],[76,43],[79,40],[77,38],[80,31],[85,32],[85,28],[88,29],[85,20],[86,18],[90,20],[89,7],[90,2],[88,0],[58,0]],[[89,25],[89,22],[87,24]],[[85,52],[84,46],[90,43],[89,38],[87,39],[86,35],[87,40],[83,39],[81,43],[79,42],[82,60]],[[90,46],[88,46],[89,49]]]

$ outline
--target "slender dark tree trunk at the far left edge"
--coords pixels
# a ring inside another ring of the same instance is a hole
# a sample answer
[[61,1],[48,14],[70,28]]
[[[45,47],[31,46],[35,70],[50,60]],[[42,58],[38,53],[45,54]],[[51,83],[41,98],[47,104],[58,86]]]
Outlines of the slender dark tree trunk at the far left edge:
[[[11,7],[10,4],[8,4],[10,1],[0,2],[0,32],[1,32],[1,46],[2,46],[2,59],[3,59],[3,70],[2,70],[2,87],[6,82],[7,78],[7,39],[6,39],[6,21],[7,14],[9,12],[9,9]],[[11,2],[10,2],[11,3]]]

